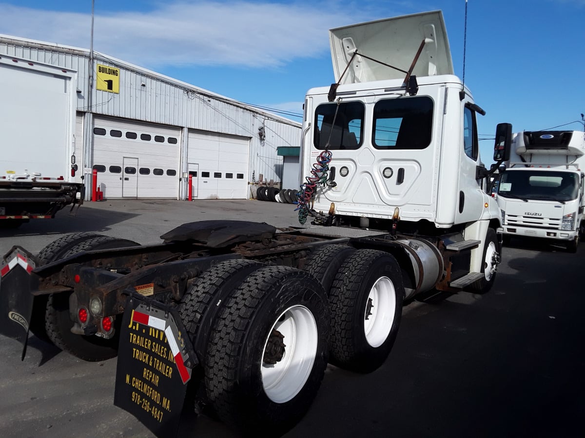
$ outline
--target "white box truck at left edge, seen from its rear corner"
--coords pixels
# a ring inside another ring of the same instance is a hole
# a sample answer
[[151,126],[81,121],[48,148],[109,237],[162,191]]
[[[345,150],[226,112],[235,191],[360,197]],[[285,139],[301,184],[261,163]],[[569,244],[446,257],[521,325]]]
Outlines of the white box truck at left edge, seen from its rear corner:
[[0,227],[83,202],[75,178],[74,71],[0,55]]

